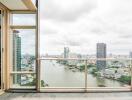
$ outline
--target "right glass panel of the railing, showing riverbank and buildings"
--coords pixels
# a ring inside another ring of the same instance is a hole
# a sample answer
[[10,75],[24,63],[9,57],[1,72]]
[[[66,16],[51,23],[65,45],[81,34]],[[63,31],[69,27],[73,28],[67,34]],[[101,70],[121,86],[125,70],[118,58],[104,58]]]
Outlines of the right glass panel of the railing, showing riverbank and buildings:
[[[91,63],[93,62],[93,63]],[[97,60],[88,62],[88,87],[130,87],[129,60]]]

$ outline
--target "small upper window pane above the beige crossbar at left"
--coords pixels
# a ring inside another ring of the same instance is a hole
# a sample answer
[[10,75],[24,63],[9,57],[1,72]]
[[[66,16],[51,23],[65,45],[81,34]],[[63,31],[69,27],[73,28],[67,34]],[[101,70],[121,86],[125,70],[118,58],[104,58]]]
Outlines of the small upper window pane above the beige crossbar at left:
[[36,25],[35,14],[12,14],[12,25]]

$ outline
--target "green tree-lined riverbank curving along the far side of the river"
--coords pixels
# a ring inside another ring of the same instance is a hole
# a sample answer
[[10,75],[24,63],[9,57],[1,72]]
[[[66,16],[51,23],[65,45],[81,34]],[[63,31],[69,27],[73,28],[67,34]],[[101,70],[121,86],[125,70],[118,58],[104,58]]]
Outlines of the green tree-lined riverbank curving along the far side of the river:
[[[72,64],[68,64],[68,62],[64,62],[64,61],[57,61],[57,63],[60,63],[64,66],[67,66],[70,70],[72,70],[73,72],[81,71],[84,72],[85,71],[85,65],[84,64],[80,64],[80,66],[78,65],[72,65]],[[96,68],[95,64],[88,64],[87,65],[88,68],[88,73],[92,74],[94,77],[98,77],[98,78],[105,78],[105,79],[110,79],[110,80],[114,80],[114,81],[118,81],[121,84],[125,84],[125,86],[130,86],[131,85],[131,77],[130,76],[126,76],[126,75],[121,75],[121,77],[119,78],[115,78],[115,77],[111,77],[110,75],[106,75],[105,72],[103,71],[99,71]],[[75,71],[76,70],[76,71]],[[102,86],[101,86],[102,87]]]

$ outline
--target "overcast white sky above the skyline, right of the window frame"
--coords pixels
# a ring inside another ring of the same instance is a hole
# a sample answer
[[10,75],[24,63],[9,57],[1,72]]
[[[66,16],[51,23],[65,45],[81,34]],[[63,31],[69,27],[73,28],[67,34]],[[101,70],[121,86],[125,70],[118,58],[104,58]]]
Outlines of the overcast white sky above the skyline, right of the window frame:
[[41,54],[95,54],[96,43],[107,52],[132,50],[132,0],[41,0]]

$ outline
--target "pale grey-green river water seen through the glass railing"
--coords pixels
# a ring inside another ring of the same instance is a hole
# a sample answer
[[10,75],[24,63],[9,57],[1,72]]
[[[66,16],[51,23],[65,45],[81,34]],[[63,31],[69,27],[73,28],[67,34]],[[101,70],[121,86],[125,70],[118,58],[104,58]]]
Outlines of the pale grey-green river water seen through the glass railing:
[[[48,87],[84,87],[85,74],[80,71],[72,71],[56,61],[41,62],[41,80],[44,80]],[[98,78],[88,73],[88,87],[123,87],[126,86],[116,80]]]

